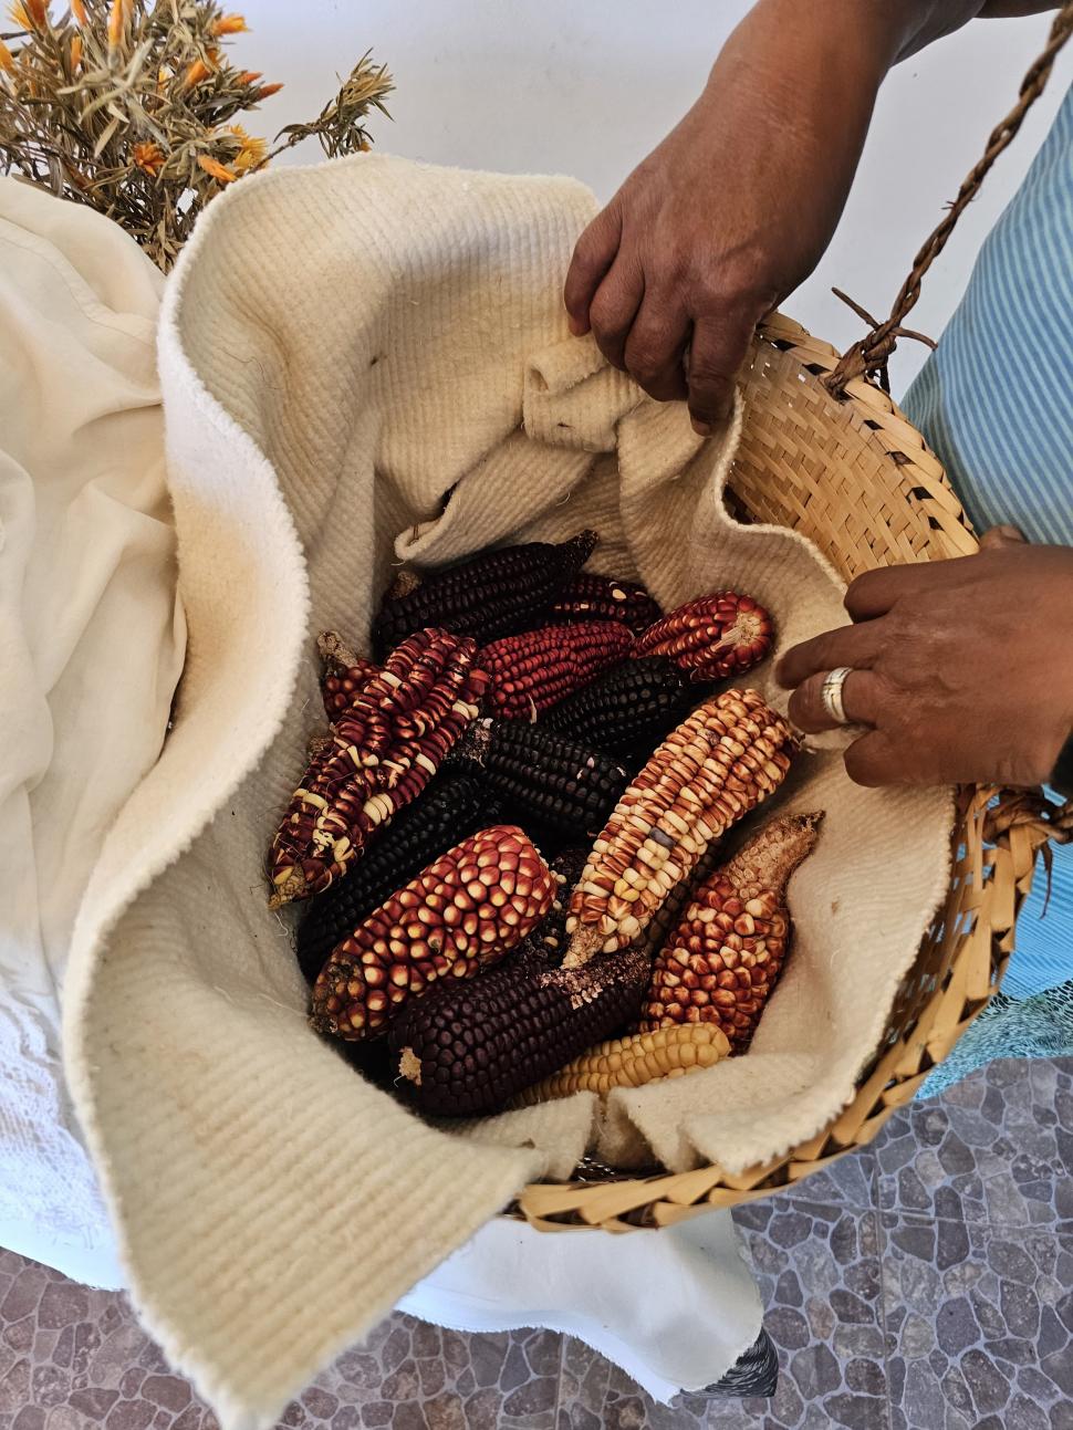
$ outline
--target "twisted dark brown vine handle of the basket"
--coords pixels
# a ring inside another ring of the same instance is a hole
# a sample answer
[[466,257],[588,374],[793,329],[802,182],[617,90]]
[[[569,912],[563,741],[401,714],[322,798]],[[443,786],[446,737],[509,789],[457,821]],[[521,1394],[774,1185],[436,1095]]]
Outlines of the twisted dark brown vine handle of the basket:
[[923,247],[913,260],[913,270],[901,285],[901,292],[894,299],[890,317],[884,319],[881,323],[876,322],[876,319],[854,303],[853,299],[846,297],[844,293],[834,289],[838,297],[847,302],[860,317],[871,325],[871,332],[861,337],[860,342],[856,342],[851,347],[847,347],[840,358],[838,365],[827,373],[825,378],[823,378],[824,386],[836,398],[843,398],[846,395],[847,385],[856,378],[871,378],[878,382],[884,392],[890,392],[887,363],[890,362],[890,356],[897,346],[898,337],[916,337],[934,347],[931,339],[924,337],[923,333],[914,333],[903,326],[906,316],[920,297],[920,282],[946,247],[946,242],[953,233],[954,225],[976,197],[987,170],[1014,137],[1017,130],[1021,127],[1024,116],[1046,89],[1054,60],[1066,40],[1069,40],[1070,34],[1073,34],[1073,0],[1066,0],[1054,17],[1047,47],[1034,64],[1030,66],[1029,73],[1021,80],[1017,103],[1013,106],[1001,124],[991,130],[983,159],[980,159],[980,162],[971,169],[959,189],[957,197],[950,204],[946,217],[927,236]]

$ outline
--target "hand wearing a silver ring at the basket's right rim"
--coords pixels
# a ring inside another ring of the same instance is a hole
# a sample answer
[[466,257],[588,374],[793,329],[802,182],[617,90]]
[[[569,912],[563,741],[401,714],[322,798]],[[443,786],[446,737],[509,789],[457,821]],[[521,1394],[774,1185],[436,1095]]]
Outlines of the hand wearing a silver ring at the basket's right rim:
[[1073,548],[1007,529],[976,556],[888,566],[846,595],[854,625],[788,651],[777,678],[803,731],[831,729],[820,688],[850,666],[846,752],[861,785],[1049,779],[1073,729]]

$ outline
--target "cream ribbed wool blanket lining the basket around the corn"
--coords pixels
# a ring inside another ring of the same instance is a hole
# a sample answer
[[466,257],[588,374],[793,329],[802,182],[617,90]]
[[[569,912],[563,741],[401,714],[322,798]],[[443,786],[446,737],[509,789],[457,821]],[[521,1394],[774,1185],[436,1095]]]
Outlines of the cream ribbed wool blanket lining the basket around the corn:
[[857,789],[815,754],[783,805],[828,818],[748,1058],[618,1095],[599,1123],[578,1097],[452,1134],[308,1031],[265,848],[319,724],[315,632],[361,639],[393,562],[594,525],[594,566],[667,605],[733,581],[783,645],[844,619],[804,541],[724,515],[748,413],[702,443],[567,336],[561,280],[592,212],[567,180],[362,156],[236,186],[166,292],[187,659],[76,928],[67,1074],[142,1313],[229,1427],[268,1426],[587,1145],[740,1168],[814,1133],[944,888],[947,797]]

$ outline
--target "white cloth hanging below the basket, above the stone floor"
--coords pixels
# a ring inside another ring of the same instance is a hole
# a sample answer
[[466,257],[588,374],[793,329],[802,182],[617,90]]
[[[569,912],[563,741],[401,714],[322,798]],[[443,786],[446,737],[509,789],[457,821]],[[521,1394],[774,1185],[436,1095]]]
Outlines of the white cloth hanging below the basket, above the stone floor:
[[562,1331],[664,1404],[721,1380],[763,1324],[728,1211],[625,1237],[489,1221],[399,1310],[461,1331]]

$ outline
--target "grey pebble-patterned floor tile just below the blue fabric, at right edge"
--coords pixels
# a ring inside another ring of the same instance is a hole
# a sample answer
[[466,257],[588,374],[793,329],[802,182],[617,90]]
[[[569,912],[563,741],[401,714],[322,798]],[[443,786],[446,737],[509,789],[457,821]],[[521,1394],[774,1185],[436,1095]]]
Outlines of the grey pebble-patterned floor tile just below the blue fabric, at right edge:
[[[883,1211],[1073,1233],[1073,1062],[1000,1061],[876,1140]],[[956,1240],[949,1233],[949,1240]],[[953,1246],[943,1253],[954,1256]]]

